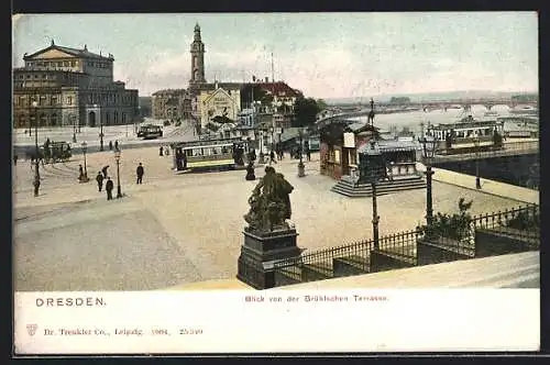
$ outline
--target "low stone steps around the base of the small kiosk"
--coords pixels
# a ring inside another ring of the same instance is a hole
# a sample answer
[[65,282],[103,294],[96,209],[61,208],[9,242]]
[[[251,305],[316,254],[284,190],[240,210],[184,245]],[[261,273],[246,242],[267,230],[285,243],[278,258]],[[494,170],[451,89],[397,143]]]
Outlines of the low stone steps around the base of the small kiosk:
[[[421,176],[396,177],[392,181],[380,181],[376,185],[376,195],[424,188],[426,188],[426,180]],[[350,198],[372,197],[371,184],[358,184],[351,176],[342,176],[330,190]]]

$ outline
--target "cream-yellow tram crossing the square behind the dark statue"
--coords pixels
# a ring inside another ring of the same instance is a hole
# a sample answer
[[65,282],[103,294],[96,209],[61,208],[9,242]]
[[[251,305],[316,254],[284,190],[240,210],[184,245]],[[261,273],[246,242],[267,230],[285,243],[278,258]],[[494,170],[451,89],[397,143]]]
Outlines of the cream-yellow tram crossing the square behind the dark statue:
[[241,139],[179,142],[170,145],[174,169],[234,169],[244,166],[249,147]]

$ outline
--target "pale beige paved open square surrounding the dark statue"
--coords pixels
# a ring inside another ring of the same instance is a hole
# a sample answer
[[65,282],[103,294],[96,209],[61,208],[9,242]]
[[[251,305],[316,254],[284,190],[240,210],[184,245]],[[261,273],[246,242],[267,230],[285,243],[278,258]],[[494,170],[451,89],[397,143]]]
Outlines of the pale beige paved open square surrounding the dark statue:
[[[312,157],[304,178],[296,176],[295,159],[275,165],[295,187],[290,200],[298,245],[314,250],[371,237],[371,199],[329,191],[334,180],[319,174],[318,154]],[[158,156],[156,147],[123,150],[125,197],[107,201],[94,180],[77,182],[77,158],[41,167],[37,198],[31,164],[13,168],[15,290],[243,287],[234,279],[242,215],[256,184],[244,180],[245,172],[174,175],[172,156]],[[145,166],[140,186],[134,184],[139,162]],[[88,155],[89,176],[107,164],[116,181],[111,152]],[[440,169],[435,179],[436,211],[455,211],[460,197],[474,200],[473,214],[517,207],[518,200],[538,202],[538,192],[501,182],[484,180],[483,191],[476,191],[474,177]],[[425,206],[425,190],[378,197],[381,235],[414,229],[424,221]]]

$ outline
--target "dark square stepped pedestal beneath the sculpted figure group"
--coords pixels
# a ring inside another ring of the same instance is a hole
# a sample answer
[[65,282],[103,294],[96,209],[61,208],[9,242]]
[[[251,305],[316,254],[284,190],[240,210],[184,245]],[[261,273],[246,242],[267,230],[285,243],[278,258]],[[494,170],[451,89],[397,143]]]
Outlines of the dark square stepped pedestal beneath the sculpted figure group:
[[296,245],[296,230],[256,232],[244,230],[244,244],[241,246],[237,278],[255,289],[275,286],[273,262],[299,256],[301,250]]

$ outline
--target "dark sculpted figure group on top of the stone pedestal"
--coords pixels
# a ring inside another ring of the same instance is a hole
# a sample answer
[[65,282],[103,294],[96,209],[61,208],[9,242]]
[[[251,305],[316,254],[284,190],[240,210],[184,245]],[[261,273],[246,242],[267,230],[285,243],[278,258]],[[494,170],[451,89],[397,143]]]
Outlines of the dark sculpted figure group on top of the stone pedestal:
[[265,176],[249,198],[250,210],[244,215],[248,229],[258,232],[289,229],[286,220],[292,215],[289,195],[293,190],[283,174],[271,166],[265,167]]

